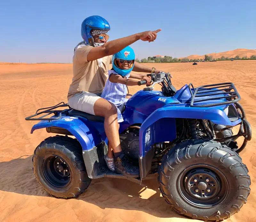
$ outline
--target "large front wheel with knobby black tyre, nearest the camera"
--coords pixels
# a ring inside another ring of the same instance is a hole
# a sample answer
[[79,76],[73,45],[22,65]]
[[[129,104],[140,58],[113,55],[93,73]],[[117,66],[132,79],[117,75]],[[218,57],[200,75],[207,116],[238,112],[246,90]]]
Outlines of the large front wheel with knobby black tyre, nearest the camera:
[[160,191],[180,214],[204,221],[227,219],[250,194],[251,180],[241,157],[225,145],[188,140],[163,158]]

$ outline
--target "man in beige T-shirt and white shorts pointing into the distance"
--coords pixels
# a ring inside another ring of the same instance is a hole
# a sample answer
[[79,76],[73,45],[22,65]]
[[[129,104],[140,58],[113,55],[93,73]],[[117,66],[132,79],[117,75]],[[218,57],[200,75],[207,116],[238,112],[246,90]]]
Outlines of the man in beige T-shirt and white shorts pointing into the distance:
[[[100,95],[108,78],[112,55],[138,40],[154,42],[161,29],[107,42],[109,30],[108,21],[100,16],[90,16],[82,22],[81,35],[84,41],[80,42],[74,50],[73,79],[68,91],[68,103],[73,109],[105,118],[104,129],[116,157],[116,170],[125,176],[139,177],[139,168],[130,163],[120,146],[116,106],[101,98]],[[136,62],[133,71],[160,72]]]

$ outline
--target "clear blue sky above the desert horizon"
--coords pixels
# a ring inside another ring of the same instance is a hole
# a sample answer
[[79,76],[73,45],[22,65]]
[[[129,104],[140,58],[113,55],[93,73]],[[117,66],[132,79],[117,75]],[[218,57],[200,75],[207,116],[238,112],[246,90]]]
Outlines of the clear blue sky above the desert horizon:
[[132,44],[139,59],[256,49],[256,1],[1,0],[0,62],[72,62],[82,21],[108,20],[110,40],[162,28]]

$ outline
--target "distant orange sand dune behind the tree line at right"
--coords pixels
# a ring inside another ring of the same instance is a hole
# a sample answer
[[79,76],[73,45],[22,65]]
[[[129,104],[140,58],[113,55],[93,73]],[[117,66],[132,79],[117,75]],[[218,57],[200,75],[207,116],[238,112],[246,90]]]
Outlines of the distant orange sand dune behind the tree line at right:
[[[212,56],[212,58],[215,58],[215,52],[214,53],[210,53],[210,54],[206,54],[208,56]],[[256,49],[236,49],[236,50],[230,50],[230,51],[226,51],[226,52],[218,52],[216,53],[216,58],[220,58],[222,56],[224,57],[235,57],[235,56],[239,56],[240,58],[247,56],[248,58],[250,58],[252,55],[256,55]],[[197,59],[197,58],[202,58],[204,59],[204,55],[199,56],[199,55],[190,55],[187,56],[187,58],[189,59]]]

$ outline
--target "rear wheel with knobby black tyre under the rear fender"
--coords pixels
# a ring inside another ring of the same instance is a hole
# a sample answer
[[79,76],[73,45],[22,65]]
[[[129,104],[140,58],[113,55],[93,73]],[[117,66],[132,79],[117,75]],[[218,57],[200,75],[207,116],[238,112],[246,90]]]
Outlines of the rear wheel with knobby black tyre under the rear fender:
[[33,171],[42,188],[57,198],[72,198],[90,185],[76,139],[67,136],[48,137],[35,149]]

